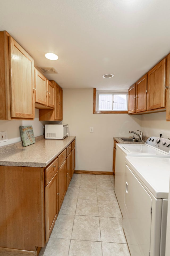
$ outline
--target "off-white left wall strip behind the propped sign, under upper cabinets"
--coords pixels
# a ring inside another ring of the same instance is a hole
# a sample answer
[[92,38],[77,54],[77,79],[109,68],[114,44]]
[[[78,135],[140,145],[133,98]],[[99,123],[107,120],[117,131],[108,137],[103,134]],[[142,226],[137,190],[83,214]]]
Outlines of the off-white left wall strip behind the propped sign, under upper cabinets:
[[0,121],[0,131],[7,131],[8,132],[8,141],[6,142],[1,142],[1,146],[5,146],[14,142],[21,141],[20,137],[20,131],[19,131],[19,126],[24,126],[24,125],[32,125],[33,131],[34,131],[34,136],[40,136],[43,135],[43,126],[44,124],[47,123],[45,121],[39,121],[39,110],[35,109],[35,119],[33,121],[28,120],[28,121],[18,121],[18,120],[11,120],[11,121]]

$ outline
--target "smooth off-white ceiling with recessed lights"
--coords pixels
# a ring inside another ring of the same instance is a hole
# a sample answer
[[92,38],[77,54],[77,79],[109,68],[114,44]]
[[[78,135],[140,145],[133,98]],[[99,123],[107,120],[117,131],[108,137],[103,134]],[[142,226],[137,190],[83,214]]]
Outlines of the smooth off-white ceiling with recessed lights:
[[[170,52],[169,0],[0,0],[0,30],[62,88],[128,89]],[[50,61],[45,53],[58,55]],[[114,74],[103,78],[104,74]]]

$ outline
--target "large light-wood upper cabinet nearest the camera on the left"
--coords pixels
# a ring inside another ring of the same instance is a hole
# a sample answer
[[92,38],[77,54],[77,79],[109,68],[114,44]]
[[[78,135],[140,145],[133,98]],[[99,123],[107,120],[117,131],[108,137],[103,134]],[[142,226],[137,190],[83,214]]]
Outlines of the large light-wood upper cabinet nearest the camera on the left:
[[0,31],[0,70],[0,119],[33,119],[34,60],[6,31]]

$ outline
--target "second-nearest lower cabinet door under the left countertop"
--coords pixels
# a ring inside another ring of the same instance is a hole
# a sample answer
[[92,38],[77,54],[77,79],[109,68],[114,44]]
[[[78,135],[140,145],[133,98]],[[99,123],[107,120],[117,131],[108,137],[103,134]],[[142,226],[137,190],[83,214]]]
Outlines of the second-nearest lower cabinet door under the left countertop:
[[58,169],[58,210],[60,211],[62,202],[66,194],[66,160]]

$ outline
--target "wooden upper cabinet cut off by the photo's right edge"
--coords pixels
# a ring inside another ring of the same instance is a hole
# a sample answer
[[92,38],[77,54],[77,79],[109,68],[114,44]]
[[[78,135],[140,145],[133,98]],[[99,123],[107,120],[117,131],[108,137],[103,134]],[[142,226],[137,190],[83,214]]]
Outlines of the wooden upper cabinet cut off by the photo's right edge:
[[166,119],[167,121],[170,121],[170,54],[168,54],[167,56],[166,92],[167,92]]

